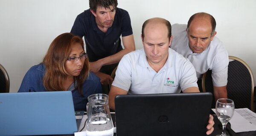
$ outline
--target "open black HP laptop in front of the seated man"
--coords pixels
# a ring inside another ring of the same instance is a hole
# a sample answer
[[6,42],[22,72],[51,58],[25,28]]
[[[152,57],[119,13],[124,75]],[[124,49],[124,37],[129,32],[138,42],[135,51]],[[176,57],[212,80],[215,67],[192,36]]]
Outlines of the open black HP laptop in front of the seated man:
[[211,93],[119,95],[117,136],[206,136]]

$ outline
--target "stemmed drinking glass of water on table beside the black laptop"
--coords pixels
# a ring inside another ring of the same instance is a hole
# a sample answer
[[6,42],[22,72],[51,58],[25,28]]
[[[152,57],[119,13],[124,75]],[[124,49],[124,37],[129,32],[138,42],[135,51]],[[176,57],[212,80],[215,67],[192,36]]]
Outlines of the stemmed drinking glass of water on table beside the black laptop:
[[232,118],[235,110],[235,105],[231,99],[218,99],[216,102],[216,114],[222,124],[222,133],[217,136],[229,136],[226,134],[226,126]]

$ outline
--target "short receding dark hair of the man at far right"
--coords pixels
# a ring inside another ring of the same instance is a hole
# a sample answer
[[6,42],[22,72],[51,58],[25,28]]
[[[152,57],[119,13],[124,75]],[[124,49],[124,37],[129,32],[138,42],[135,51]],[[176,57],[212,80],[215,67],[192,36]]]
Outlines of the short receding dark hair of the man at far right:
[[212,36],[215,32],[216,21],[215,21],[214,17],[212,17],[212,15],[210,15],[208,13],[205,13],[205,12],[199,12],[199,13],[193,14],[189,18],[188,25],[187,25],[187,30],[189,31],[189,26],[190,26],[191,22],[195,19],[196,16],[208,16],[208,17],[210,17],[210,22],[211,22],[211,25],[212,25],[212,34],[211,34],[211,36]]

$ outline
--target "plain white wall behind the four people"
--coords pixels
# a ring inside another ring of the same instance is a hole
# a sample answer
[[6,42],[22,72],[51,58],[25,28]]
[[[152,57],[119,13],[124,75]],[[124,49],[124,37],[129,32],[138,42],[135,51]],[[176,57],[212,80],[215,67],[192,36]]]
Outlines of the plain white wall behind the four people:
[[[69,32],[89,0],[0,0],[0,63],[10,77],[10,91],[17,92],[24,74],[42,61],[49,44]],[[196,12],[207,12],[217,22],[217,37],[229,55],[243,59],[256,75],[256,0],[119,0],[131,17],[136,49],[145,20],[163,17],[187,23]]]

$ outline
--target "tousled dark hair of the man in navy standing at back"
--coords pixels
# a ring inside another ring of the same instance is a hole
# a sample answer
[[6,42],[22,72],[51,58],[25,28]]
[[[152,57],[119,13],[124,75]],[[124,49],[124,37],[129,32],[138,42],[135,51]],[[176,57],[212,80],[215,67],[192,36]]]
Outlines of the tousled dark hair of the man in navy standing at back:
[[110,6],[116,8],[118,5],[117,0],[89,0],[90,9],[96,12],[98,7],[110,9]]

